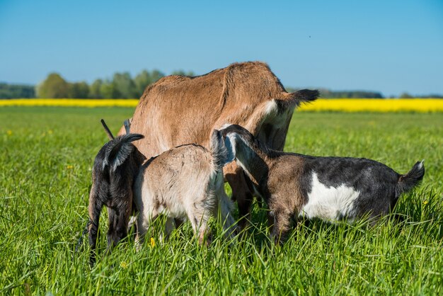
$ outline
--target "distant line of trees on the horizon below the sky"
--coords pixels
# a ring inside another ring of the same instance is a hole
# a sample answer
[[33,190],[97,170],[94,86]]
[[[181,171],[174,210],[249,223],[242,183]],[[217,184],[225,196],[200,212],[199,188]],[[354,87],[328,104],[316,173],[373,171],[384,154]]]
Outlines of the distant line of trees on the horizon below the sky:
[[[195,76],[193,72],[183,70],[172,72],[173,75]],[[143,70],[137,76],[128,72],[115,73],[111,79],[96,79],[92,84],[86,81],[69,82],[58,73],[50,73],[37,86],[0,83],[0,98],[140,98],[149,84],[165,76],[159,70]],[[331,91],[319,89],[322,98],[384,98],[377,91]],[[287,91],[297,89],[287,87]],[[443,98],[439,94],[413,96],[401,93],[399,98]]]

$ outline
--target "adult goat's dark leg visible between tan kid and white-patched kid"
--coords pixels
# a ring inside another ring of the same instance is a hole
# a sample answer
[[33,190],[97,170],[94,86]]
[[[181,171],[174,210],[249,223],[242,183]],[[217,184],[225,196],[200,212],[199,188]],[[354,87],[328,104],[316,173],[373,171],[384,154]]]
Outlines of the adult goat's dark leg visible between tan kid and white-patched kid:
[[251,205],[253,201],[253,195],[248,189],[248,185],[243,175],[243,169],[239,166],[228,165],[224,169],[226,181],[228,181],[229,186],[232,189],[232,199],[237,201],[238,204],[238,214],[240,220],[238,221],[238,226],[240,229],[245,229],[249,220],[251,220]]

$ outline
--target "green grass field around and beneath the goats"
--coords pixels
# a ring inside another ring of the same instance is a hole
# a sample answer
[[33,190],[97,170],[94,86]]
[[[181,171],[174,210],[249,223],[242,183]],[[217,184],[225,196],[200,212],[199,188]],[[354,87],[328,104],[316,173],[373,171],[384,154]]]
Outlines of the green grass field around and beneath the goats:
[[[197,246],[189,224],[166,243],[154,234],[88,266],[91,166],[133,108],[0,108],[0,295],[442,295],[443,113],[295,113],[285,150],[376,159],[400,173],[425,159],[422,185],[384,220],[299,225],[284,246],[267,241],[265,211],[230,245]],[[192,184],[191,184],[192,185]],[[99,252],[105,248],[103,211]]]

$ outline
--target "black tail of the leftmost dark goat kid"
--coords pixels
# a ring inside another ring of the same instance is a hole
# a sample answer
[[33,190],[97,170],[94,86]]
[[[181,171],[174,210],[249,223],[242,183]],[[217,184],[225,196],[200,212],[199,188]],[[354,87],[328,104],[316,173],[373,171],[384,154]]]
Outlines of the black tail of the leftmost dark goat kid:
[[105,159],[103,160],[103,170],[105,166],[110,166],[111,171],[115,171],[118,166],[124,164],[135,149],[132,142],[143,138],[144,136],[140,134],[127,134],[108,142],[105,150]]

